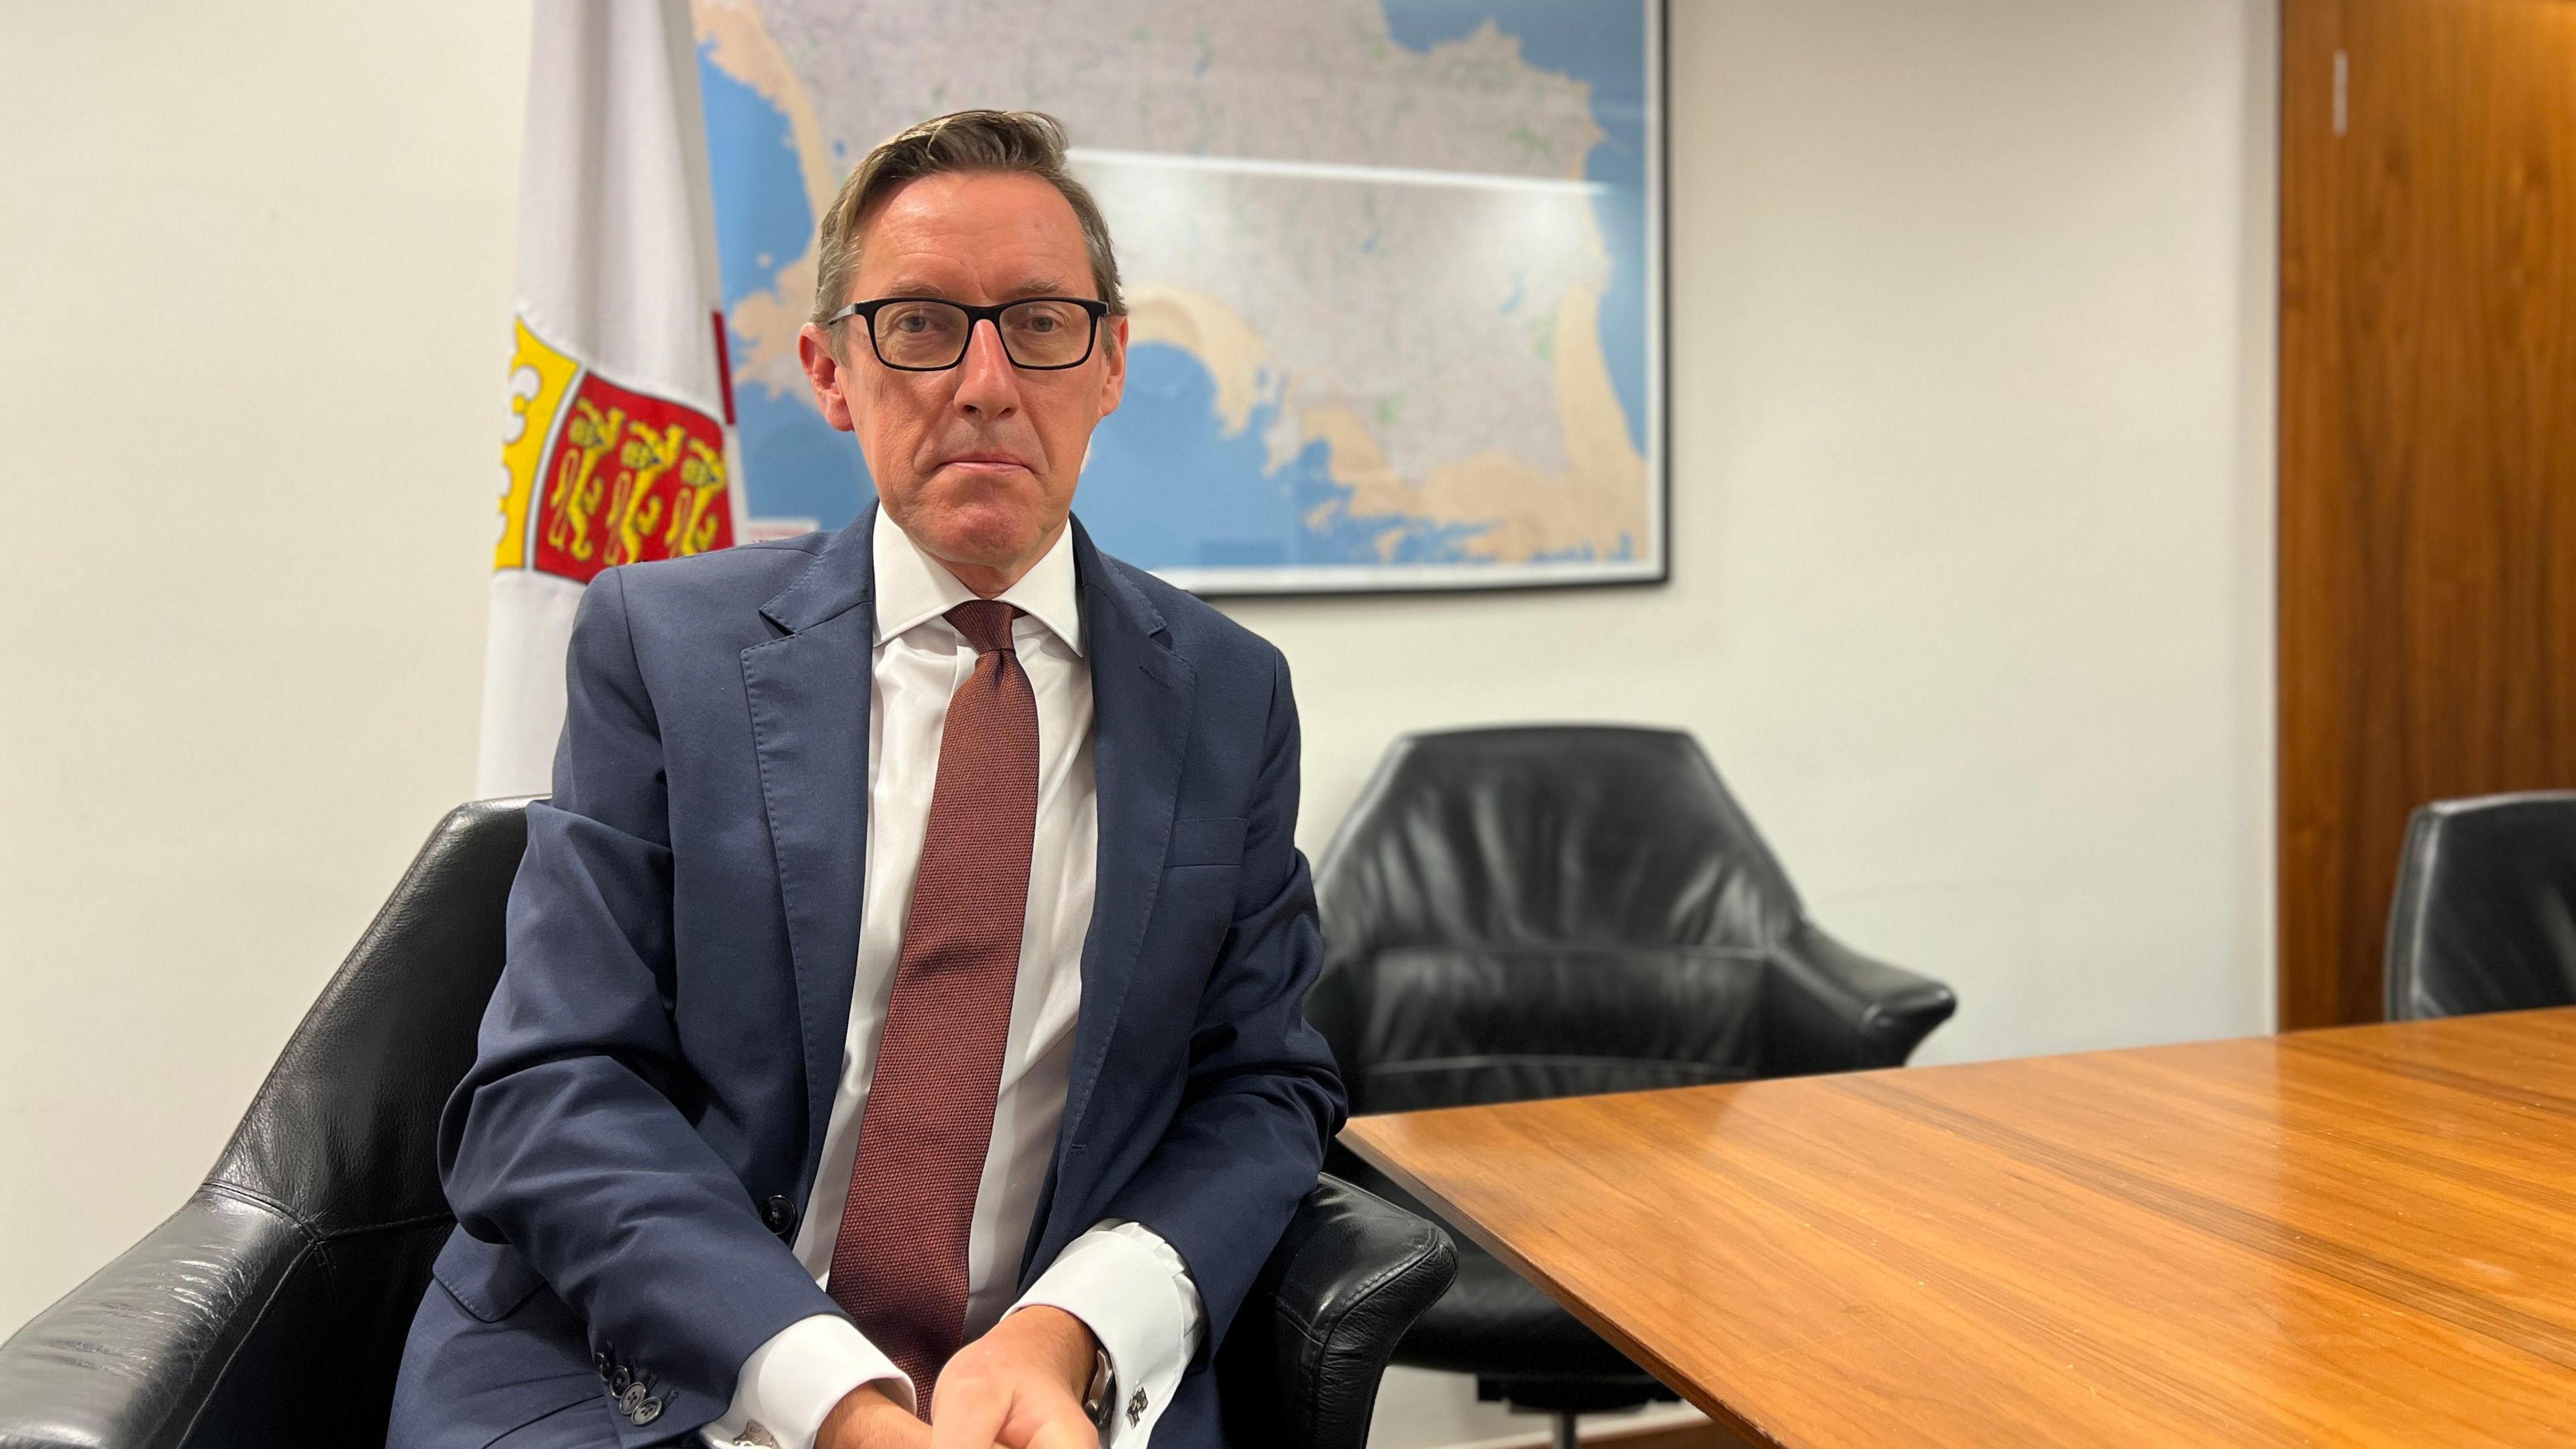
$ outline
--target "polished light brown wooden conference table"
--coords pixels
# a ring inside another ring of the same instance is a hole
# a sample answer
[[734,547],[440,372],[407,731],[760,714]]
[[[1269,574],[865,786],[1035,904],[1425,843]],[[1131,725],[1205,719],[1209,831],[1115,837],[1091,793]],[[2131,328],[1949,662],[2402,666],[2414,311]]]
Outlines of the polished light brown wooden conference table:
[[2576,1444],[2576,1008],[1345,1142],[1754,1444]]

